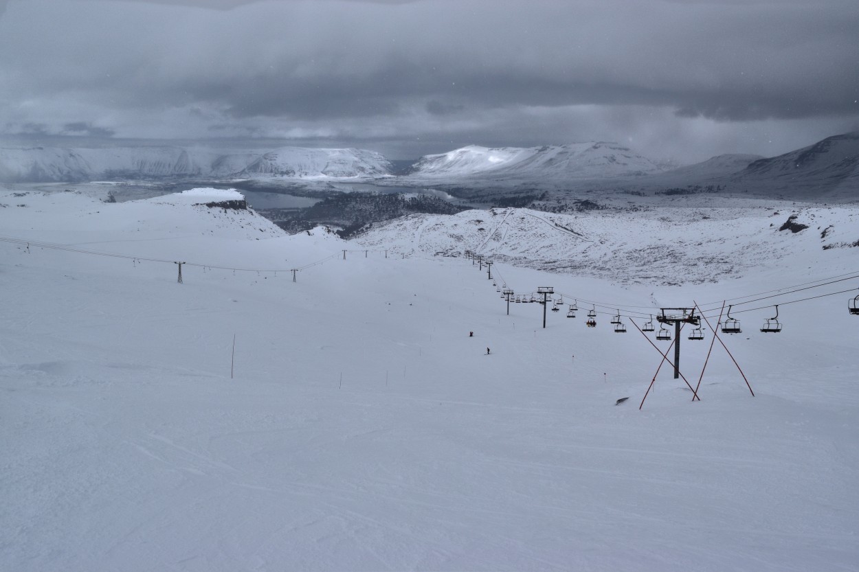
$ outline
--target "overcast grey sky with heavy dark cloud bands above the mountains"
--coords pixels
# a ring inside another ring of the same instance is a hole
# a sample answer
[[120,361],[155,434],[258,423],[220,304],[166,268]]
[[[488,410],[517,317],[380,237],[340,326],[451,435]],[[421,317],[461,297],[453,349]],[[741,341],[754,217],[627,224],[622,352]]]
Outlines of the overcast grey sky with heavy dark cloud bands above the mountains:
[[859,130],[857,101],[857,0],[0,0],[7,138],[692,162]]

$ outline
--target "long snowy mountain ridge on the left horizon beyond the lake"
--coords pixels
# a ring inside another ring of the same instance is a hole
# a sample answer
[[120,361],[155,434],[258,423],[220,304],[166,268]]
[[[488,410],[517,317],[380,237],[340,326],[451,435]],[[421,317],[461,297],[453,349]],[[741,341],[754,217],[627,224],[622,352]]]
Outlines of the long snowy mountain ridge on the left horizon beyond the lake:
[[165,177],[324,178],[387,174],[375,151],[283,147],[265,152],[137,146],[0,148],[0,182],[65,182]]

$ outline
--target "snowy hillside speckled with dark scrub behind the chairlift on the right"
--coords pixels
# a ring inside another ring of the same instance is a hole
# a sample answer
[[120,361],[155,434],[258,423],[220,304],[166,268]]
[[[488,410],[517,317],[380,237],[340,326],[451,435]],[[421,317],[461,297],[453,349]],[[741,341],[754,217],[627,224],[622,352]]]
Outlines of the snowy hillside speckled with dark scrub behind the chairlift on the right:
[[[825,267],[840,254],[824,246],[859,241],[854,207],[739,199],[734,206],[716,199],[710,203],[719,206],[413,215],[377,225],[357,240],[372,247],[395,245],[407,253],[461,256],[471,250],[540,270],[655,284],[723,281],[760,265],[795,265],[797,256]],[[792,214],[809,228],[799,234],[779,231]],[[859,248],[854,253],[859,256]]]

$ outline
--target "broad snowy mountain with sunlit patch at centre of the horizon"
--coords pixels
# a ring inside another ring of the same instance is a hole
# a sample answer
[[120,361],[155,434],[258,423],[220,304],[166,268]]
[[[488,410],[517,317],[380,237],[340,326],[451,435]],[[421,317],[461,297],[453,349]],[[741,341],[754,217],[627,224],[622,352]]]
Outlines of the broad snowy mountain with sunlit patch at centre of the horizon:
[[606,179],[659,172],[653,161],[617,143],[487,148],[469,145],[425,155],[406,173],[412,179]]

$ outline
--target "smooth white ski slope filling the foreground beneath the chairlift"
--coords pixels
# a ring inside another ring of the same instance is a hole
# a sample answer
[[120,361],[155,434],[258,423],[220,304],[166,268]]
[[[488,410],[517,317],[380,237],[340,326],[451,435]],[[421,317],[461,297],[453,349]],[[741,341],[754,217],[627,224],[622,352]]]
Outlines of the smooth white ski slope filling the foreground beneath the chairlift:
[[[815,228],[738,248],[777,232],[752,216],[715,282],[493,281],[202,206],[239,199],[0,192],[0,569],[859,569],[859,248]],[[502,286],[564,311],[507,315]],[[661,356],[632,322],[698,302],[715,324],[725,300],[748,386],[718,342],[698,385],[713,334],[685,328],[700,400],[666,364],[639,409]],[[776,303],[783,331],[759,332]]]

